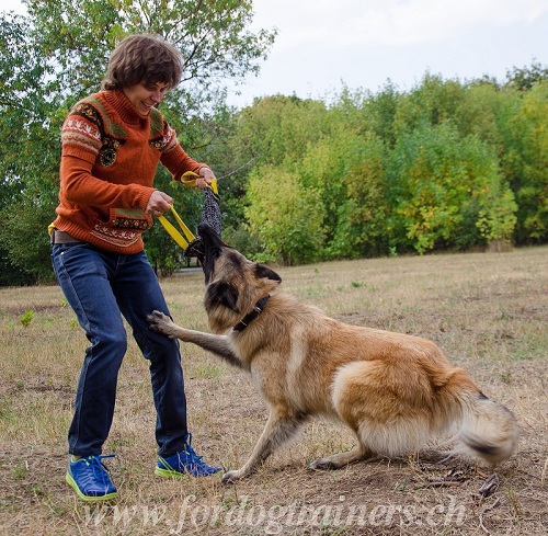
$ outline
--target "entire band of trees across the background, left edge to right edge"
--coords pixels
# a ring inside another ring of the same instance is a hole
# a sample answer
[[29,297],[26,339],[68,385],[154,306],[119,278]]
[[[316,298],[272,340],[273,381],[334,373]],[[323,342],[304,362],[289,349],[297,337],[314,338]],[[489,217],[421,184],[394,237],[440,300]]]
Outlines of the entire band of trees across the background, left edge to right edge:
[[[171,8],[170,8],[171,7]],[[162,103],[183,147],[219,178],[224,239],[262,261],[331,259],[546,243],[548,69],[445,80],[411,90],[343,87],[322,99],[272,95],[236,110],[228,80],[260,67],[274,31],[251,33],[252,2],[30,0],[0,14],[0,285],[53,277],[46,228],[58,192],[59,129],[99,89],[109,53],[134,32],[164,35],[186,80]],[[201,193],[170,181],[191,227]],[[160,274],[186,261],[156,225]]]

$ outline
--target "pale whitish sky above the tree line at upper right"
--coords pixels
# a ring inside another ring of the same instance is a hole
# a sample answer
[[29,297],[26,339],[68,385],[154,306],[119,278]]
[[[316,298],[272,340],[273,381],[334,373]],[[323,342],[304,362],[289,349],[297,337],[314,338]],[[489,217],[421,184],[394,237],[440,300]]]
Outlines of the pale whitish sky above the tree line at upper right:
[[[1,11],[21,9],[0,0]],[[514,67],[548,65],[548,0],[253,0],[253,11],[251,30],[278,34],[260,75],[230,89],[236,106],[344,87],[375,93],[388,81],[408,91],[426,72],[502,81]]]

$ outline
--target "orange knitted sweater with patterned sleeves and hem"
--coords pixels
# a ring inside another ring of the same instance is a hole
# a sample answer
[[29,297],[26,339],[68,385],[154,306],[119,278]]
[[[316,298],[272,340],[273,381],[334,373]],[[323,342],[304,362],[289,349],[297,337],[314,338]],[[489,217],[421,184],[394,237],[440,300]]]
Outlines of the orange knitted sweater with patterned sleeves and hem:
[[161,113],[137,113],[122,91],[101,91],[78,102],[61,129],[56,229],[115,253],[142,251],[145,214],[158,163],[175,180],[204,163],[190,158]]

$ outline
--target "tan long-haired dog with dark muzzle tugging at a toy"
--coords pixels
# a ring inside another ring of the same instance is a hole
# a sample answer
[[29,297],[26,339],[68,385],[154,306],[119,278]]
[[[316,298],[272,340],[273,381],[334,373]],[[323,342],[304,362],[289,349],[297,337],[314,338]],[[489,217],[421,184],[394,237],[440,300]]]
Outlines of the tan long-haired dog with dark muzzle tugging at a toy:
[[224,243],[207,225],[204,306],[213,333],[184,329],[153,311],[150,328],[194,343],[251,374],[270,408],[246,464],[225,483],[253,474],[313,415],[349,426],[357,445],[310,464],[338,469],[378,456],[416,452],[437,434],[489,468],[516,449],[517,421],[490,400],[432,341],[351,326],[277,292],[279,275]]

